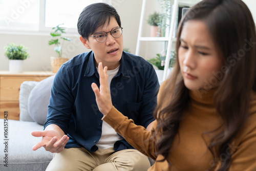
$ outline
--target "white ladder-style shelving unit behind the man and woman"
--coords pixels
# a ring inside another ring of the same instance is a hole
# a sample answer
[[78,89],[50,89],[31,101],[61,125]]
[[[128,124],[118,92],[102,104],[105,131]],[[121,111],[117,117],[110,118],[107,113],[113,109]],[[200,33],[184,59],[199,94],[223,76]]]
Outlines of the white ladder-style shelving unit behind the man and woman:
[[[147,0],[143,0],[143,2],[142,2],[139,32],[138,32],[135,54],[139,55],[141,41],[163,41],[163,42],[167,42],[165,63],[169,63],[170,53],[171,53],[172,46],[173,46],[173,41],[176,41],[176,37],[173,37],[173,35],[174,35],[174,32],[175,32],[175,26],[176,26],[176,16],[177,16],[177,12],[178,12],[178,4],[179,5],[186,5],[186,6],[193,6],[193,4],[195,4],[196,2],[199,2],[199,0],[187,0],[187,1],[186,0],[183,0],[183,1],[182,0],[174,0],[172,18],[170,18],[170,28],[169,28],[169,33],[168,33],[167,37],[142,37],[143,20],[144,20],[144,15],[145,15],[146,1]],[[164,73],[163,73],[163,80],[162,81],[164,81],[167,78],[168,66],[169,65],[165,65],[165,67],[164,67]]]

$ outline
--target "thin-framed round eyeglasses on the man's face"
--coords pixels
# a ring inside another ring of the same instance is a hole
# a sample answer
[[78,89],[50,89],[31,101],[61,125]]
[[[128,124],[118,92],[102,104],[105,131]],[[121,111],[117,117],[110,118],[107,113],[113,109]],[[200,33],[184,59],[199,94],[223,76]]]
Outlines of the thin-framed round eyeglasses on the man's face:
[[122,32],[123,32],[122,29],[123,29],[122,27],[114,27],[109,32],[101,31],[101,32],[95,33],[95,36],[90,36],[90,37],[95,37],[95,39],[98,42],[103,42],[103,41],[106,40],[106,37],[108,36],[108,33],[110,33],[114,38],[120,37],[122,35]]

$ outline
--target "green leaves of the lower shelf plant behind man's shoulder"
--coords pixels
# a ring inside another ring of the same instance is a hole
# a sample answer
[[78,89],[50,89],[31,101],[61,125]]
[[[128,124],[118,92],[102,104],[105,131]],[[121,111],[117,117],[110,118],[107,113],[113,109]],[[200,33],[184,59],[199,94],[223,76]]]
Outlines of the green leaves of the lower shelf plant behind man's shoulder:
[[[164,66],[165,66],[165,58],[166,55],[165,54],[156,54],[157,56],[151,59],[148,59],[147,61],[149,61],[152,65],[156,66],[159,70],[163,70]],[[175,52],[172,51],[171,52],[171,57],[170,57],[170,63],[169,63],[169,68],[173,67],[175,63]]]

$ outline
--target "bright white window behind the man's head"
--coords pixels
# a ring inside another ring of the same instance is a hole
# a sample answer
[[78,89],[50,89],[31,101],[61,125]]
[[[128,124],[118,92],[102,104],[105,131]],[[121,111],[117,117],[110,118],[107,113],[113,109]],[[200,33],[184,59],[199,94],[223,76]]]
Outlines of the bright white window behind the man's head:
[[0,31],[44,32],[59,24],[77,32],[82,9],[110,0],[0,0]]

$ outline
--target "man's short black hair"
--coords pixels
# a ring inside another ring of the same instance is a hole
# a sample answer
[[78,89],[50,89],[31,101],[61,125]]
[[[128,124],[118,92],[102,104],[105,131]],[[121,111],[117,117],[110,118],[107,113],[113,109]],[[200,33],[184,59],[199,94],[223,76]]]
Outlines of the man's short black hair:
[[98,27],[106,22],[109,24],[112,16],[116,18],[118,26],[121,27],[120,16],[114,7],[105,3],[91,4],[82,10],[78,18],[78,33],[88,39]]

